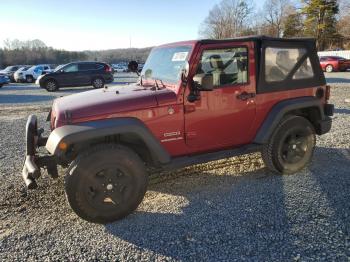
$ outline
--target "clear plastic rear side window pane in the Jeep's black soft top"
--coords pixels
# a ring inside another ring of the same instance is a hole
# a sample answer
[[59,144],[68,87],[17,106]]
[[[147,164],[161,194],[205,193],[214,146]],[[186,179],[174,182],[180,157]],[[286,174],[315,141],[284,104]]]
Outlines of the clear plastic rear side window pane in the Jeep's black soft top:
[[[304,48],[267,47],[265,50],[266,82],[285,80],[304,54],[306,54],[306,49]],[[310,59],[307,58],[292,78],[306,79],[313,76]]]

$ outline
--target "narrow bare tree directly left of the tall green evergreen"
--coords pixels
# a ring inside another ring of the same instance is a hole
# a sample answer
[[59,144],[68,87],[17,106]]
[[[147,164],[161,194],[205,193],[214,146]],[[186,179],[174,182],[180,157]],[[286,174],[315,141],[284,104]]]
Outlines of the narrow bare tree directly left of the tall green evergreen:
[[281,37],[283,22],[290,14],[289,0],[266,0],[264,4],[265,30],[271,36]]

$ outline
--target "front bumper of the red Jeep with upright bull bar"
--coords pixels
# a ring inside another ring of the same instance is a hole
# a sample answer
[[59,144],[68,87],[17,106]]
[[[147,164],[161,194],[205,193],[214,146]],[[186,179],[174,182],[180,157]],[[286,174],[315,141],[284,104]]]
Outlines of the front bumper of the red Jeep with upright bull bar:
[[57,162],[55,156],[38,155],[36,149],[46,145],[47,138],[42,137],[43,129],[38,129],[38,120],[30,115],[26,124],[26,157],[22,177],[28,189],[37,187],[36,179],[41,176],[40,168],[46,168],[52,177],[57,177]]

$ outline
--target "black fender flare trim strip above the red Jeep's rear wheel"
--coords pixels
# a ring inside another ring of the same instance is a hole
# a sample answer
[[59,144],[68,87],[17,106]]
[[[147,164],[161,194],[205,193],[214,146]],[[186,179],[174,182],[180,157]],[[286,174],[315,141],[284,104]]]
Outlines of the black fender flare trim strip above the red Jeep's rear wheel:
[[253,143],[266,144],[282,118],[293,110],[316,108],[321,120],[325,119],[323,106],[316,97],[300,97],[281,101],[274,105],[259,128]]

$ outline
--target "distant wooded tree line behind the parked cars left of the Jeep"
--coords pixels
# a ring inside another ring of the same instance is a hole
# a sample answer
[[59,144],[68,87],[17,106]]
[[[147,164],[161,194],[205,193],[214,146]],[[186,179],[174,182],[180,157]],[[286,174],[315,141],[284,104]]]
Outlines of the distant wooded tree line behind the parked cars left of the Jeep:
[[39,40],[20,41],[18,39],[4,41],[0,49],[0,67],[8,65],[66,64],[72,61],[103,61],[118,63],[136,60],[144,62],[151,48],[127,48],[102,51],[66,51],[46,46]]

